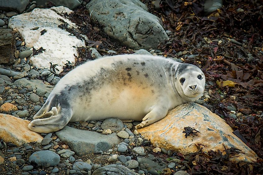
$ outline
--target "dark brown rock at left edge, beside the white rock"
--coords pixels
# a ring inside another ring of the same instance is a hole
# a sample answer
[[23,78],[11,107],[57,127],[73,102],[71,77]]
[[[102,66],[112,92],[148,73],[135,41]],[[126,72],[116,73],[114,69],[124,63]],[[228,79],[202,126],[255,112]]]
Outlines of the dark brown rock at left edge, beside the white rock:
[[15,38],[11,29],[0,29],[0,63],[12,61],[16,49]]

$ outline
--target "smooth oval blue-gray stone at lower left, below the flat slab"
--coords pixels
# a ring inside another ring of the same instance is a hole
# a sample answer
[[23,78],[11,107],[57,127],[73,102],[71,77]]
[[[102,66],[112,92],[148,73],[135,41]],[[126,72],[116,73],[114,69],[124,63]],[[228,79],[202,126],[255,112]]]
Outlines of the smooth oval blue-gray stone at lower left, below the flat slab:
[[60,156],[49,150],[37,151],[31,154],[28,161],[35,162],[38,166],[55,166],[59,164]]

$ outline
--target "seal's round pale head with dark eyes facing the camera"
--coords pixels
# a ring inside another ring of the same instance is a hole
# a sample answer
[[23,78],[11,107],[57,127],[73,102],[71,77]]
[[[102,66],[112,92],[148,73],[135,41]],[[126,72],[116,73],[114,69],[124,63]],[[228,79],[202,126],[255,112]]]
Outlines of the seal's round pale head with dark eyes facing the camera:
[[182,99],[195,101],[203,96],[205,77],[199,67],[179,64],[175,73],[175,87]]

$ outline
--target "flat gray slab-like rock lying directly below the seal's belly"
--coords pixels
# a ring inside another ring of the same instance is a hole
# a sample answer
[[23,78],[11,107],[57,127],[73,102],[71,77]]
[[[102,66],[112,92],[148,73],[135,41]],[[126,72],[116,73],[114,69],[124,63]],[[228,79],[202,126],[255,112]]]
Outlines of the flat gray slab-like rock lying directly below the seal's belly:
[[118,145],[121,140],[116,133],[103,135],[65,126],[56,132],[57,137],[66,143],[78,156],[106,151]]

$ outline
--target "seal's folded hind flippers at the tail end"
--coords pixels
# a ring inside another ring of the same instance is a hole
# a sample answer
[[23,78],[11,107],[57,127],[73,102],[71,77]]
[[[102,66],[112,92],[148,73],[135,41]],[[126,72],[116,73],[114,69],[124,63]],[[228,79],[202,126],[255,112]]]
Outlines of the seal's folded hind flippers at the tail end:
[[33,120],[29,123],[28,127],[31,131],[39,133],[49,133],[61,130],[70,121],[73,111],[69,108],[60,108],[59,111],[56,107],[52,108],[53,115],[48,118],[41,118]]

